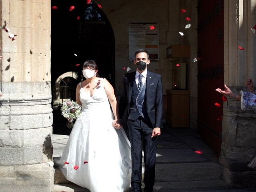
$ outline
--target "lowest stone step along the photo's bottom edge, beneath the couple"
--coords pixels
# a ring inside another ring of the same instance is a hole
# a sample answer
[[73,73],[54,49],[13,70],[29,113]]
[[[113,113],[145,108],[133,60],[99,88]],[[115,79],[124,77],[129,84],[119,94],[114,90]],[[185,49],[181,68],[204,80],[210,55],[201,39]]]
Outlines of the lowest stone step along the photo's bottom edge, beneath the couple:
[[[143,185],[142,185],[143,187]],[[228,185],[222,180],[207,181],[179,181],[179,182],[156,182],[154,192],[192,192],[192,191],[218,191],[228,189]],[[129,189],[126,192],[131,192]],[[143,190],[142,190],[143,191]],[[88,189],[75,184],[55,184],[52,192],[90,192]]]

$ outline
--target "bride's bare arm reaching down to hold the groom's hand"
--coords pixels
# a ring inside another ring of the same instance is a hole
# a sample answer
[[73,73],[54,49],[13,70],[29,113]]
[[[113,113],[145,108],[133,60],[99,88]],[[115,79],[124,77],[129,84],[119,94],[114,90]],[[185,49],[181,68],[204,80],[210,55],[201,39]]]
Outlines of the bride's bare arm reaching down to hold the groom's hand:
[[115,117],[114,127],[120,129],[121,128],[121,123],[120,123],[120,120],[119,120],[118,104],[117,104],[116,96],[115,96],[115,93],[114,93],[114,88],[108,82],[108,80],[103,79],[102,82],[103,82],[105,92],[108,96],[108,101],[110,102],[112,111],[114,113],[114,117]]

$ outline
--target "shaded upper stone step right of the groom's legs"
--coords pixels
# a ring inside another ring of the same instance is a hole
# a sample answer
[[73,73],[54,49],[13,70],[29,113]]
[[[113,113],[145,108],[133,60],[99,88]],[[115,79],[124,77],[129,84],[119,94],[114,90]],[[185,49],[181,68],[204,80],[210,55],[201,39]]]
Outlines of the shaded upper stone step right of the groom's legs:
[[218,162],[156,164],[156,182],[219,180],[223,168]]

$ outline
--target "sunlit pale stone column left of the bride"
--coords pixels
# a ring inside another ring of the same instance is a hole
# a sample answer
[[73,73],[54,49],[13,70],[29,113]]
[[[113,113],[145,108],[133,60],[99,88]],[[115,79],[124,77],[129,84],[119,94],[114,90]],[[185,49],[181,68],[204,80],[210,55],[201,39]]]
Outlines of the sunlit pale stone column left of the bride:
[[53,184],[50,0],[0,1],[0,191]]

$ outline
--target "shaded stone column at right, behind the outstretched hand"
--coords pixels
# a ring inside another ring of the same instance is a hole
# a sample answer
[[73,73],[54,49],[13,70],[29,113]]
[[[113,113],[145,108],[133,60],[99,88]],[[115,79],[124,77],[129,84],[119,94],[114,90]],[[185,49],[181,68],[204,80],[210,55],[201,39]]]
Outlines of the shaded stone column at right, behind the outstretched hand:
[[[256,0],[224,3],[224,83],[239,94],[246,91],[246,79],[256,86],[256,34],[250,30],[256,24]],[[256,113],[242,111],[236,100],[224,102],[221,147],[224,181],[236,188],[255,187],[256,172],[247,164],[256,156]]]

